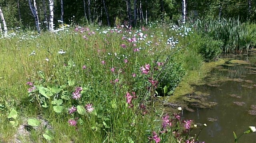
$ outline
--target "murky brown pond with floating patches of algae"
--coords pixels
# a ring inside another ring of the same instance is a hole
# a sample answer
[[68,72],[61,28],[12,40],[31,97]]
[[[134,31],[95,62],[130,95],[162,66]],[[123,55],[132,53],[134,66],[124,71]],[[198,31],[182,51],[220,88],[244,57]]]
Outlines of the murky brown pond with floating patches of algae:
[[[229,57],[230,58],[230,57]],[[235,59],[255,63],[253,56],[237,56]],[[212,109],[192,108],[194,112],[184,110],[183,117],[192,119],[195,123],[207,124],[200,133],[200,141],[206,143],[232,143],[233,131],[239,136],[248,130],[249,126],[256,126],[256,64],[230,64],[219,66],[205,78],[218,78],[214,83],[197,86],[197,91],[207,92],[208,101],[216,102]],[[255,105],[255,106],[254,106]],[[255,115],[250,115],[255,114]],[[202,127],[202,126],[199,126]],[[199,129],[192,131],[198,134]],[[256,133],[242,136],[241,143],[255,143]]]

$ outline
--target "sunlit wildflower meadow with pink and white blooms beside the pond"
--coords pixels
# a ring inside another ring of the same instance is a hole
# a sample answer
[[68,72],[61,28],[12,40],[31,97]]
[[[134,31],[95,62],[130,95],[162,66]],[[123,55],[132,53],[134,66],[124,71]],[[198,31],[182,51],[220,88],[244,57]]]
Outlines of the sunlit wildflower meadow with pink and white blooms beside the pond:
[[207,124],[183,118],[182,107],[165,112],[155,100],[201,67],[199,39],[194,25],[161,22],[2,35],[0,140],[203,143]]

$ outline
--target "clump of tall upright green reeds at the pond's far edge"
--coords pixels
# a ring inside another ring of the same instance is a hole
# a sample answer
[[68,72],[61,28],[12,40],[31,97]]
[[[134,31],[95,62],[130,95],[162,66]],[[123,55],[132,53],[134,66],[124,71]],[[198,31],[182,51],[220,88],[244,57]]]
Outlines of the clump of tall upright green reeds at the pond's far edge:
[[195,29],[199,34],[222,40],[224,43],[222,51],[225,53],[248,52],[253,41],[254,30],[248,31],[248,23],[241,23],[239,18],[197,20]]

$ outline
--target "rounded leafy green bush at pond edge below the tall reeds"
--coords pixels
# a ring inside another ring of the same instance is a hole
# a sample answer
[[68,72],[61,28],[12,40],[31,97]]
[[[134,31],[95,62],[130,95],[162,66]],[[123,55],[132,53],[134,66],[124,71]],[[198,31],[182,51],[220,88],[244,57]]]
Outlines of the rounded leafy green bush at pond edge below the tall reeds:
[[198,50],[205,60],[211,61],[222,52],[222,46],[223,42],[221,40],[213,40],[206,37],[202,40]]

